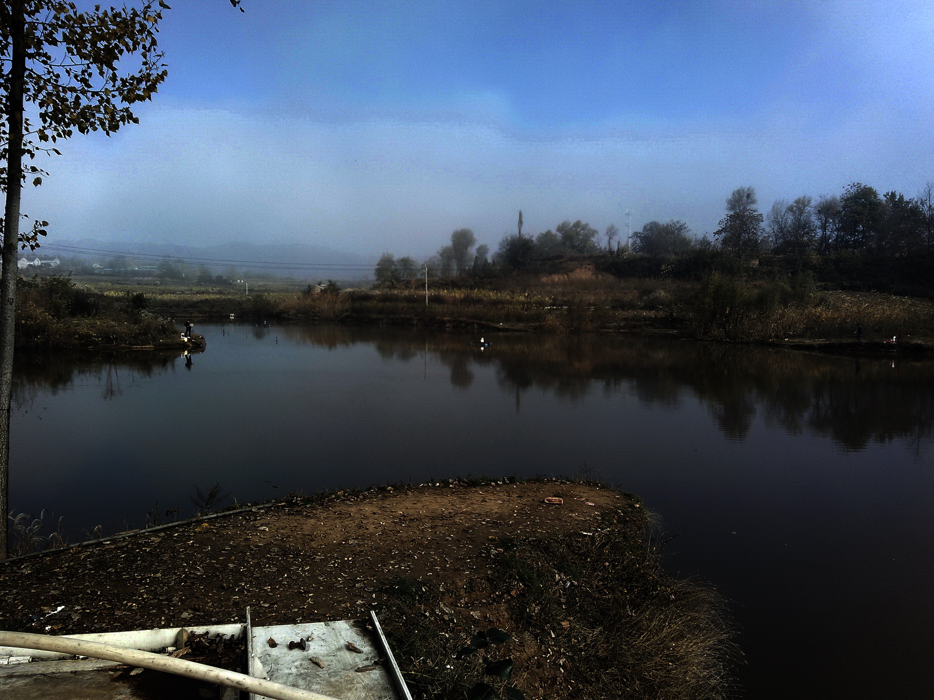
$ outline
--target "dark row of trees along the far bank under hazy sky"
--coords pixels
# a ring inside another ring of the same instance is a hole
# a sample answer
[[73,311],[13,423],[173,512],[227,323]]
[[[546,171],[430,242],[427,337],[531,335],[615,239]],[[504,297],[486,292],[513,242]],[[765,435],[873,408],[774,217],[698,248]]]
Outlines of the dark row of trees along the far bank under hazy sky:
[[683,221],[650,221],[633,233],[631,247],[619,240],[616,226],[611,224],[601,234],[580,220],[563,221],[554,231],[523,234],[520,211],[517,232],[502,237],[492,259],[488,259],[487,245],[477,245],[474,250],[475,243],[473,231],[459,229],[451,234],[450,245],[420,263],[385,253],[376,264],[377,285],[393,287],[425,274],[457,277],[514,273],[573,256],[601,256],[605,272],[622,276],[655,276],[665,265],[652,265],[644,259],[637,262],[630,253],[642,254],[641,258],[669,259],[669,269],[671,259],[699,259],[706,270],[680,266],[694,273],[710,272],[710,265],[717,259],[721,267],[726,264],[729,268],[730,259],[748,263],[776,256],[785,259],[785,267],[792,272],[815,271],[829,263],[831,267],[849,268],[851,276],[858,277],[860,272],[854,266],[864,263],[869,266],[866,275],[873,277],[874,261],[927,260],[934,255],[934,183],[928,182],[914,198],[897,191],[880,195],[868,185],[853,183],[839,196],[824,195],[816,201],[807,195],[792,202],[779,200],[765,215],[757,208],[756,190],[741,187],[729,195],[726,216],[712,237],[697,237]]

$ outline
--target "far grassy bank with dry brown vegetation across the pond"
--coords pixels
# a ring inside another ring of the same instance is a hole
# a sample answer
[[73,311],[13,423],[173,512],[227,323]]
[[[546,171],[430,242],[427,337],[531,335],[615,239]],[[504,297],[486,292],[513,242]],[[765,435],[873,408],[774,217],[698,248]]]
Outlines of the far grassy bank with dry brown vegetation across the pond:
[[655,331],[736,343],[882,343],[931,346],[934,303],[870,291],[821,289],[807,274],[712,273],[697,280],[569,272],[432,281],[340,293],[151,293],[162,315],[393,323],[545,332]]

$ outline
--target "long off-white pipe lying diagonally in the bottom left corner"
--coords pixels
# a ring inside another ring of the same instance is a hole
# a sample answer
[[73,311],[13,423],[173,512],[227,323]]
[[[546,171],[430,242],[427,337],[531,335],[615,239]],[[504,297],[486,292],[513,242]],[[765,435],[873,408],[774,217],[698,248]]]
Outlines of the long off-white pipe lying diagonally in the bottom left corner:
[[49,635],[34,635],[29,632],[0,631],[0,646],[57,651],[59,653],[75,654],[76,656],[89,656],[93,659],[116,661],[120,664],[151,668],[155,671],[164,671],[165,673],[174,673],[177,676],[186,676],[190,679],[225,685],[228,688],[264,695],[270,700],[336,700],[330,695],[290,688],[288,685],[282,685],[272,680],[256,679],[223,668],[195,664],[192,661],[174,659],[171,656],[154,654],[149,651],[115,647],[112,644],[101,644],[87,639],[50,637]]

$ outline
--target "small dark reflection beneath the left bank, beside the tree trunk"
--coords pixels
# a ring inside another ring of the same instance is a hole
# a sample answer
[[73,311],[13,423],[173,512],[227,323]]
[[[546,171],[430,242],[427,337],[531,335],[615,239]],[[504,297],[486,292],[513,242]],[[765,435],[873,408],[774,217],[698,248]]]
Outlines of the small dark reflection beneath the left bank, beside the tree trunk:
[[52,395],[90,380],[101,387],[101,398],[120,396],[124,385],[175,369],[175,352],[22,352],[14,358],[13,403],[31,404],[39,392]]

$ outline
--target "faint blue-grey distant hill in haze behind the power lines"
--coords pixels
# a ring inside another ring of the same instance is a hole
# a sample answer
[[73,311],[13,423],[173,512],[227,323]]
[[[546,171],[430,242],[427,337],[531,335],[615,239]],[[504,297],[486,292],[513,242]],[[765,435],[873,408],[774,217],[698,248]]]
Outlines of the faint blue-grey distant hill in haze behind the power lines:
[[[83,250],[68,250],[67,248],[81,248]],[[42,245],[41,250],[47,254],[85,259],[108,259],[117,256],[167,257],[170,259],[184,259],[194,265],[206,264],[216,271],[233,267],[242,272],[255,271],[259,273],[262,271],[262,273],[272,273],[276,276],[294,276],[298,278],[368,279],[373,276],[373,268],[376,262],[375,258],[371,256],[335,250],[324,245],[299,243],[260,245],[244,241],[196,246],[102,241],[96,238],[56,239]],[[281,270],[276,269],[278,265],[282,266]],[[296,265],[307,265],[309,267],[289,269],[289,266]],[[321,267],[312,267],[318,265]]]

